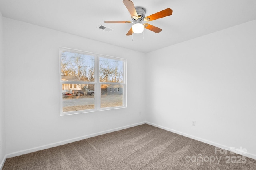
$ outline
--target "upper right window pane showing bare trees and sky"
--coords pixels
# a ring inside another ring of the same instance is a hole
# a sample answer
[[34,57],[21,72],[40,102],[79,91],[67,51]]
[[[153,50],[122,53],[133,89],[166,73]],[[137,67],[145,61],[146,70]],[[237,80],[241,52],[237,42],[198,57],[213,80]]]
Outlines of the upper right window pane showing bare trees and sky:
[[99,58],[100,82],[123,82],[124,61]]

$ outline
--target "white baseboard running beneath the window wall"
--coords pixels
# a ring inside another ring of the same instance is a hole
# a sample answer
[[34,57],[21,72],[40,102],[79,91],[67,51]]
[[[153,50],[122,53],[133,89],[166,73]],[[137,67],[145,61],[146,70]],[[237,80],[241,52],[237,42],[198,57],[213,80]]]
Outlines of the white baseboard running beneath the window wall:
[[73,138],[73,139],[67,139],[65,141],[51,143],[51,144],[48,144],[48,145],[43,145],[43,146],[34,147],[34,148],[30,148],[30,149],[20,150],[18,152],[13,152],[13,153],[10,153],[10,154],[6,154],[6,158],[11,158],[11,157],[14,157],[14,156],[20,156],[22,154],[28,154],[28,153],[36,152],[36,151],[43,150],[43,149],[57,147],[57,146],[60,146],[60,145],[65,145],[65,144],[68,144],[68,143],[80,141],[80,140],[87,139],[87,138],[90,138],[90,137],[95,137],[95,136],[98,136],[98,135],[103,135],[103,134],[106,134],[106,133],[119,131],[119,130],[126,129],[126,128],[129,128],[129,127],[143,125],[145,123],[146,122],[135,123],[135,124],[132,124],[132,125],[122,126],[122,127],[118,127],[118,128],[114,128],[114,129],[110,129],[110,130],[106,130],[106,131],[101,131],[101,132],[98,132],[98,133],[92,133],[90,135],[76,137],[76,138]]

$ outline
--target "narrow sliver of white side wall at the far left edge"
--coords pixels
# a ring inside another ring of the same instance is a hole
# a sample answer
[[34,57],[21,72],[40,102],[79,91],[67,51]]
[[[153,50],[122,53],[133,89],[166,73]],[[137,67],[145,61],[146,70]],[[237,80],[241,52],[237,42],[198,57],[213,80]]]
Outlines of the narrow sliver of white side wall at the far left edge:
[[[0,11],[0,89],[4,89],[4,48],[3,48],[3,17]],[[5,121],[4,121],[4,95],[0,94],[0,169],[5,157]]]

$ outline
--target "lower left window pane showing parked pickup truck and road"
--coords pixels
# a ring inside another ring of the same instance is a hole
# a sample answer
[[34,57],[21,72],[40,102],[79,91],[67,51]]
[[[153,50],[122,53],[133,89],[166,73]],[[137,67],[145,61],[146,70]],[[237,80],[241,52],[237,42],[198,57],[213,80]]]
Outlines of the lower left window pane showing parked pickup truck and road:
[[[68,84],[63,85],[68,86]],[[76,90],[64,90],[63,112],[94,109],[94,94],[94,84],[77,84]]]

